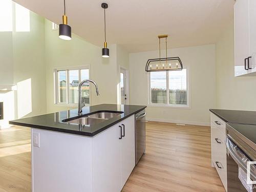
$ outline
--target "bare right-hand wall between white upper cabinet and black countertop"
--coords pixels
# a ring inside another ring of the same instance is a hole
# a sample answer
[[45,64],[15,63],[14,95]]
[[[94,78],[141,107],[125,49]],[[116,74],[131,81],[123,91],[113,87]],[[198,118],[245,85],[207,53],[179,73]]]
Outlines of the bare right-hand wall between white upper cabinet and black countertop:
[[233,21],[216,44],[217,108],[256,111],[256,77],[234,77]]

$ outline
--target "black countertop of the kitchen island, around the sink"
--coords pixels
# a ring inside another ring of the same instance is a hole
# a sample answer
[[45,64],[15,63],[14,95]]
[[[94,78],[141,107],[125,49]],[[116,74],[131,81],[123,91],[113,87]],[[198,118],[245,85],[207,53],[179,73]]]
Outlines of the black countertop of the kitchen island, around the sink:
[[77,109],[12,120],[12,121],[9,121],[9,123],[14,125],[41,129],[41,130],[49,130],[49,131],[56,131],[56,132],[62,132],[62,133],[93,137],[99,134],[100,132],[108,129],[112,125],[142,111],[145,108],[146,106],[144,105],[118,105],[118,104],[99,104],[99,105],[87,106],[82,108],[83,112],[82,112],[82,115],[80,115],[80,117],[84,117],[98,111],[120,112],[120,115],[115,116],[114,118],[107,119],[100,123],[92,124],[88,126],[62,122],[62,120],[65,120],[65,119],[70,119],[70,118],[76,119],[78,116]]

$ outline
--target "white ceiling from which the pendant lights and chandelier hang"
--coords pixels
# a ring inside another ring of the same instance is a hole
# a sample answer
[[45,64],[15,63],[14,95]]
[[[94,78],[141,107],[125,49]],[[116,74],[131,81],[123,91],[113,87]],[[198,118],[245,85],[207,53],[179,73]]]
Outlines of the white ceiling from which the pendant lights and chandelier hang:
[[[63,0],[14,0],[35,13],[61,23]],[[158,49],[159,34],[168,34],[168,48],[215,43],[233,18],[234,0],[66,0],[72,32],[102,47],[103,9],[108,44],[129,52]]]

